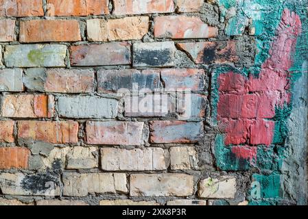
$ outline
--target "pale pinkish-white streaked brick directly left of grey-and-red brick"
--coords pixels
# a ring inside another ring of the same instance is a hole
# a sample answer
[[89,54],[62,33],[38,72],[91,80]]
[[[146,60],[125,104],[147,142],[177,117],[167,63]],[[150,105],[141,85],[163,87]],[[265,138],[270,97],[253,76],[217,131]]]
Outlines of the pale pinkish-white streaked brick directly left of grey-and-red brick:
[[86,123],[88,144],[140,145],[144,123],[141,122],[95,122]]

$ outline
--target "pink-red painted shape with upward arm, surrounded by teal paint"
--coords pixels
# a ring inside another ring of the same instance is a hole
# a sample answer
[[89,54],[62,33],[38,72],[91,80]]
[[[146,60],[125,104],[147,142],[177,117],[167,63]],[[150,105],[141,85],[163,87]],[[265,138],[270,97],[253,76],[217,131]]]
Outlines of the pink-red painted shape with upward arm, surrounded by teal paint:
[[[292,53],[300,32],[299,16],[284,10],[270,57],[262,64],[259,77],[246,78],[233,72],[218,77],[217,120],[226,131],[226,145],[272,144],[274,121],[264,118],[273,118],[276,106],[290,102],[287,70],[293,64]],[[234,150],[239,157],[247,157],[246,150]]]

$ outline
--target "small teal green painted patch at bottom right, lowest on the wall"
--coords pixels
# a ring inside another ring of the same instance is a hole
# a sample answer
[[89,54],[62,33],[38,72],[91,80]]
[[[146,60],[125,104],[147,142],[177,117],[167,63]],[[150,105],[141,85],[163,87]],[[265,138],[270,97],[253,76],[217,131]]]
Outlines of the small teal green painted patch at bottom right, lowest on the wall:
[[252,180],[260,185],[261,197],[260,198],[281,198],[281,175],[252,175]]

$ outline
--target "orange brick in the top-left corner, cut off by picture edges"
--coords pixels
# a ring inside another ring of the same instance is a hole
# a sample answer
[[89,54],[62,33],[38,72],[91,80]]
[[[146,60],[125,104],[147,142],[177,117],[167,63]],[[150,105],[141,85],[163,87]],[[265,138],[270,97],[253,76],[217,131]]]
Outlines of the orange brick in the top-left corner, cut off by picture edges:
[[41,0],[1,0],[0,16],[44,16]]

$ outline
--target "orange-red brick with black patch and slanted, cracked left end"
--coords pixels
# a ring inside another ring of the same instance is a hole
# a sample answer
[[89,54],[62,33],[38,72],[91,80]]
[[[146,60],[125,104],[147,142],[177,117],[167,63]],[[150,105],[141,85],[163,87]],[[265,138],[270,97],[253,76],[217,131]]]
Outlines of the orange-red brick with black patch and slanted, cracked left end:
[[184,42],[177,44],[196,64],[238,62],[236,42]]

